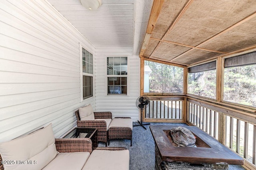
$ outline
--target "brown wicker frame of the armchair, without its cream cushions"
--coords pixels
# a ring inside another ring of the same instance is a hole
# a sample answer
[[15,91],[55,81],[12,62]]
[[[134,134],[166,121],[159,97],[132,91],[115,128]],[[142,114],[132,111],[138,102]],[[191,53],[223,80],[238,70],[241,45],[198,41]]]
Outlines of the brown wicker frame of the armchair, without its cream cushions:
[[76,112],[77,118],[77,127],[91,127],[91,128],[98,128],[98,142],[105,142],[107,146],[108,142],[108,129],[106,125],[106,121],[97,120],[97,119],[112,119],[111,112],[94,112],[94,121],[81,121],[79,116],[79,110]]

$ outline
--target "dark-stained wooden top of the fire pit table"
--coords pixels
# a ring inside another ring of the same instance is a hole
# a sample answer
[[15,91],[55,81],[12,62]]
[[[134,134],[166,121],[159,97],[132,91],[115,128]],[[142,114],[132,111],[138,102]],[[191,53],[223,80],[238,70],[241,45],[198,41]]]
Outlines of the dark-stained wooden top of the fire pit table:
[[[160,151],[162,161],[169,162],[189,162],[189,163],[208,163],[208,164],[235,164],[243,165],[244,159],[232,152],[229,148],[222,145],[215,138],[204,132],[198,127],[184,126],[189,129],[194,135],[196,140],[203,140],[203,147],[177,147],[174,146],[170,140],[171,137],[166,135],[168,130],[172,127],[179,126],[165,126],[156,125],[150,126],[156,146]],[[202,141],[201,141],[202,142]]]

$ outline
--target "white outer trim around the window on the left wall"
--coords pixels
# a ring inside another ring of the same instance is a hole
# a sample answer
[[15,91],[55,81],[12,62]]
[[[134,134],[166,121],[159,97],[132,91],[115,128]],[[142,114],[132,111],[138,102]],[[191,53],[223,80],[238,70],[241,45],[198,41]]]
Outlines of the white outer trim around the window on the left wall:
[[[86,51],[88,51],[88,52],[90,52],[91,54],[92,54],[92,66],[93,66],[93,69],[92,69],[92,71],[93,71],[93,74],[89,74],[89,73],[84,73],[83,72],[83,48],[86,50]],[[79,43],[79,56],[80,56],[80,102],[82,102],[82,101],[84,101],[84,100],[86,100],[86,99],[89,99],[89,98],[91,98],[91,97],[93,97],[94,96],[94,88],[93,88],[93,86],[94,86],[94,77],[95,77],[95,73],[94,73],[94,70],[95,70],[95,65],[94,65],[94,57],[95,57],[95,55],[94,55],[94,53],[91,51],[91,50],[88,50],[88,48],[86,48],[86,45],[83,45],[83,44],[81,44],[81,43]],[[85,98],[84,99],[84,92],[83,92],[83,76],[90,76],[90,77],[92,77],[92,96],[90,96],[90,97],[87,97],[87,98]]]

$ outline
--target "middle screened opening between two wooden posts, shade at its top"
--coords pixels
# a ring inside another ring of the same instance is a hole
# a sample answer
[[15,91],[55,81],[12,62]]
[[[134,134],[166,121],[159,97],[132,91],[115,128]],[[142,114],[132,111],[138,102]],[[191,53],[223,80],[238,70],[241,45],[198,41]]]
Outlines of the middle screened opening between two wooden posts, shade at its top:
[[216,99],[216,61],[188,68],[188,93]]

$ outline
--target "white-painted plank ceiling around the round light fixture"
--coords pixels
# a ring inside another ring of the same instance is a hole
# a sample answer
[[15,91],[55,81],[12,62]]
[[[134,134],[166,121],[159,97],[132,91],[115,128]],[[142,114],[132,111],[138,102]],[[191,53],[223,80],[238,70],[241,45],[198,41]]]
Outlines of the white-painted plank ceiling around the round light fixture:
[[132,47],[134,0],[102,0],[98,10],[79,0],[48,0],[95,47]]

